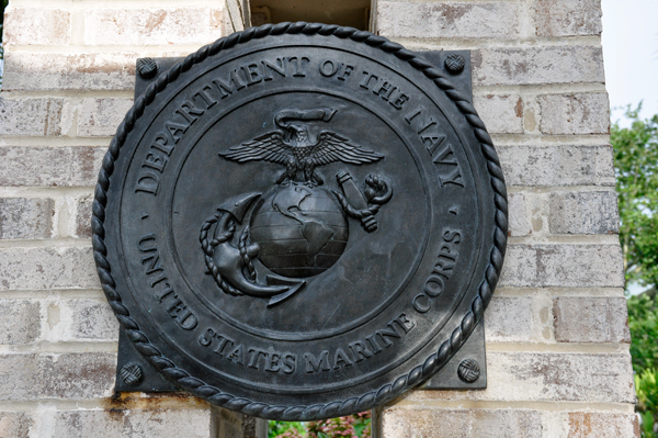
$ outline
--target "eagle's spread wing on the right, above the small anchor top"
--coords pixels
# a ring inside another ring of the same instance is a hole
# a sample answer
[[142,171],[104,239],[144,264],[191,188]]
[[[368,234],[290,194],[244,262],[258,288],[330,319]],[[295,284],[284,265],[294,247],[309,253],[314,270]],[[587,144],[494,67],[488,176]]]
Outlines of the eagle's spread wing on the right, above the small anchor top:
[[318,135],[318,143],[310,153],[310,159],[316,166],[325,166],[334,161],[362,165],[384,158],[382,154],[362,149],[349,142],[348,138],[334,133],[322,132]]

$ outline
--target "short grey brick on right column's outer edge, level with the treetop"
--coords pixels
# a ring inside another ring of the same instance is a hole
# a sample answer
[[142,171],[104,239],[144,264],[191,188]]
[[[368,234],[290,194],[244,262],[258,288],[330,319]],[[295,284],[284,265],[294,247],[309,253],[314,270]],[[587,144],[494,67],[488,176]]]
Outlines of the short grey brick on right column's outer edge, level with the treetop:
[[544,134],[609,134],[608,93],[544,94],[538,97]]

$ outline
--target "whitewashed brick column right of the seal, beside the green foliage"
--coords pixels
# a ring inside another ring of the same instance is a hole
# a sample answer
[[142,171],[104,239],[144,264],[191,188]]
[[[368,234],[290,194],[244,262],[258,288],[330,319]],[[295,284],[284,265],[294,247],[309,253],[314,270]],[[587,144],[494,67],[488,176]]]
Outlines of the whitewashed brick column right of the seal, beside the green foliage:
[[598,0],[386,1],[376,32],[470,49],[510,192],[485,391],[416,391],[379,437],[639,437]]

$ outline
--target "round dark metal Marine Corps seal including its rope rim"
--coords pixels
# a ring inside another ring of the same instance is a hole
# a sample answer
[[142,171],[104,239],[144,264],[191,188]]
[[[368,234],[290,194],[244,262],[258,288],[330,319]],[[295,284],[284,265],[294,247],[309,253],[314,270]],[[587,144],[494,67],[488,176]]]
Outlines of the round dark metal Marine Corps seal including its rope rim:
[[367,32],[281,23],[154,79],[103,160],[92,227],[110,304],[167,379],[308,420],[445,364],[498,281],[507,195],[441,69]]

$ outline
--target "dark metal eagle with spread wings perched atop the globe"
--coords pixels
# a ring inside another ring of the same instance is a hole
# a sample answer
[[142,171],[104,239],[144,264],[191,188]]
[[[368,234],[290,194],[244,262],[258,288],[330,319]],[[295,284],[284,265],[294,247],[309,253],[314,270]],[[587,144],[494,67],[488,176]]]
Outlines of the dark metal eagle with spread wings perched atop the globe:
[[234,146],[219,156],[238,162],[264,160],[285,166],[277,184],[305,183],[321,186],[322,178],[315,172],[320,166],[342,161],[351,165],[374,162],[383,155],[350,143],[341,135],[321,131],[314,139],[308,130],[309,121],[328,122],[337,110],[281,111],[274,122],[281,131],[273,131],[251,142]]

